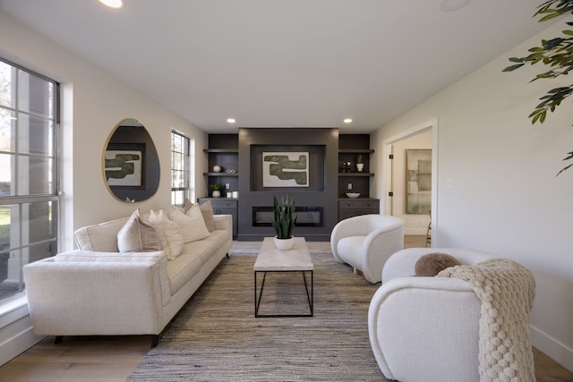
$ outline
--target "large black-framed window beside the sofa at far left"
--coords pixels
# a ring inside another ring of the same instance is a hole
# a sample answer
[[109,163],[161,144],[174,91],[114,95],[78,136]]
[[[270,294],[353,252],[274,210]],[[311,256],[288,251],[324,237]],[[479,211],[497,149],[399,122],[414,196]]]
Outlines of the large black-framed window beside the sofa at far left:
[[24,265],[57,252],[58,84],[0,60],[0,302]]

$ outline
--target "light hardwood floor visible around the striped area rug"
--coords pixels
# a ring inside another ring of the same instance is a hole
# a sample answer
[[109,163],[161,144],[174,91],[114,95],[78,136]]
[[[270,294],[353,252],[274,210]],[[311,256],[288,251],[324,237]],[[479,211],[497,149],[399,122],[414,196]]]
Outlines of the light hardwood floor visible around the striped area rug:
[[[252,246],[252,243],[236,243]],[[309,243],[312,246],[326,243]],[[425,236],[406,236],[406,247],[423,247]],[[64,337],[54,344],[47,337],[0,367],[0,381],[10,382],[114,382],[124,381],[150,350],[150,336]],[[573,382],[573,372],[534,348],[538,382]]]

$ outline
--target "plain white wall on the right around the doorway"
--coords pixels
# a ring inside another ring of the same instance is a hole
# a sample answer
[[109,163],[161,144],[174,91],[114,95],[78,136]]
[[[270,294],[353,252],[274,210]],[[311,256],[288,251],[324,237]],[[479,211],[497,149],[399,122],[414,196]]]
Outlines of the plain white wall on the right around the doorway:
[[[384,125],[371,141],[381,150],[389,137],[437,118],[433,245],[487,250],[529,267],[537,283],[532,340],[573,370],[573,169],[555,177],[573,150],[573,101],[543,125],[532,126],[527,118],[538,98],[569,85],[571,76],[529,83],[543,68],[501,72],[510,56],[526,55],[541,38],[556,37],[565,27],[557,22]],[[378,161],[374,171],[381,166]],[[375,189],[382,190],[381,184]]]

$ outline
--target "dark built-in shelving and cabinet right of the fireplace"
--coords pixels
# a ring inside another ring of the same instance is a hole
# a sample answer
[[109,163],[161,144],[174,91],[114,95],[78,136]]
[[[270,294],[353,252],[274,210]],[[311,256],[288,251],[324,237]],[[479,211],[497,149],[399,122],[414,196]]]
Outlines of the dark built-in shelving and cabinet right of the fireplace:
[[[338,136],[338,220],[380,213],[380,200],[370,197],[374,176],[370,171],[373,153],[369,134]],[[356,166],[359,163],[363,165],[361,170]],[[347,192],[359,192],[360,196],[350,199]]]

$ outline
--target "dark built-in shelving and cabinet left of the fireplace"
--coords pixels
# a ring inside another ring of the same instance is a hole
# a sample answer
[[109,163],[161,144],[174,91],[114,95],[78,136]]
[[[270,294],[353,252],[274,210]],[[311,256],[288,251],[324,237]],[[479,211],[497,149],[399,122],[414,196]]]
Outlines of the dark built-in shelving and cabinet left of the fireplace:
[[[208,171],[203,173],[209,197],[199,203],[211,201],[213,213],[233,216],[233,237],[238,234],[239,140],[237,134],[210,134],[207,156]],[[220,197],[213,198],[212,185],[220,186]]]

